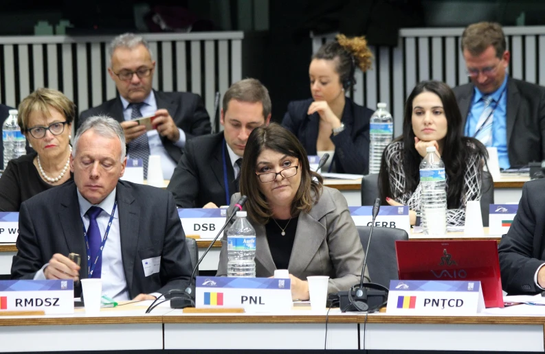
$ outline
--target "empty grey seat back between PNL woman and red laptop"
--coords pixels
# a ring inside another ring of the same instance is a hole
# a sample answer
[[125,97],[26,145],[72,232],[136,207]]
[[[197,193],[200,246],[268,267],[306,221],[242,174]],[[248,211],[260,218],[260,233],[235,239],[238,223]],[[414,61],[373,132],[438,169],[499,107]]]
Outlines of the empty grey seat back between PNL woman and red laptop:
[[399,279],[397,273],[397,255],[395,252],[395,241],[398,239],[408,240],[409,235],[401,228],[375,226],[372,232],[370,252],[367,252],[370,226],[356,226],[359,234],[359,241],[362,242],[366,252],[367,270],[372,283],[390,287],[390,280]]

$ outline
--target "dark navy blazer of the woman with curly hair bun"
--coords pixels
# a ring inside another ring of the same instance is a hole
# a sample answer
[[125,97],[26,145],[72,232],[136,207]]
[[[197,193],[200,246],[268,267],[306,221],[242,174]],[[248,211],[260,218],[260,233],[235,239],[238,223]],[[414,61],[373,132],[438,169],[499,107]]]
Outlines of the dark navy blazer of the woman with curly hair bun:
[[[307,154],[315,155],[320,115],[307,115],[313,99],[292,101],[288,104],[288,111],[282,120],[282,126],[287,128],[301,141]],[[373,111],[355,104],[346,97],[341,121],[344,130],[337,135],[331,134],[331,141],[335,144],[333,156],[335,172],[340,174],[368,174],[369,173],[369,121]]]

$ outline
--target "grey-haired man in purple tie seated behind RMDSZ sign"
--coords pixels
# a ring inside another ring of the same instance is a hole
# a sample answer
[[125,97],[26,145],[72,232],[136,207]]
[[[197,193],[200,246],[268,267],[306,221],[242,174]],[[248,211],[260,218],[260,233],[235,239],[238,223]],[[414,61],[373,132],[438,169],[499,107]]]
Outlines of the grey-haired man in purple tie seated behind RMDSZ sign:
[[[70,158],[74,182],[21,205],[12,279],[101,278],[102,294],[116,300],[154,299],[188,285],[192,266],[174,198],[119,180],[125,152],[114,119],[82,124]],[[71,252],[81,255],[81,267]]]

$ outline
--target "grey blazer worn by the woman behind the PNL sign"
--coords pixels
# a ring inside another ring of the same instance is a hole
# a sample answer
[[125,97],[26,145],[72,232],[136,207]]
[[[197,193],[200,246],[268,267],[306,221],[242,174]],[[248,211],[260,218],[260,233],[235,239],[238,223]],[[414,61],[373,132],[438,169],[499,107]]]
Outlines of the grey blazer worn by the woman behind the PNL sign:
[[[232,196],[227,215],[233,213],[234,204],[240,197],[240,193]],[[273,276],[276,266],[265,225],[257,224],[250,218],[248,220],[256,230],[256,276]],[[221,239],[218,276],[227,275],[227,230],[230,226],[225,228]],[[359,283],[363,263],[364,249],[346,199],[337,189],[323,187],[322,196],[310,213],[301,213],[298,217],[289,273],[301,280],[307,280],[309,275],[329,275],[328,293],[340,292]],[[368,272],[365,276],[369,281]]]

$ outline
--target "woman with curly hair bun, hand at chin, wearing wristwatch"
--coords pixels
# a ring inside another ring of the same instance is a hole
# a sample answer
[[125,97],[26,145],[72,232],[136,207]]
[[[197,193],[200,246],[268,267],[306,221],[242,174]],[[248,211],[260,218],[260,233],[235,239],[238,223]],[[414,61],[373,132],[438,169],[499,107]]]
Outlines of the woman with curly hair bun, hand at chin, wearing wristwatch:
[[322,45],[311,58],[312,98],[288,104],[282,126],[296,134],[307,154],[329,153],[326,170],[368,174],[373,111],[355,104],[346,93],[355,84],[355,69],[365,72],[371,60],[364,37],[337,35],[335,42]]

